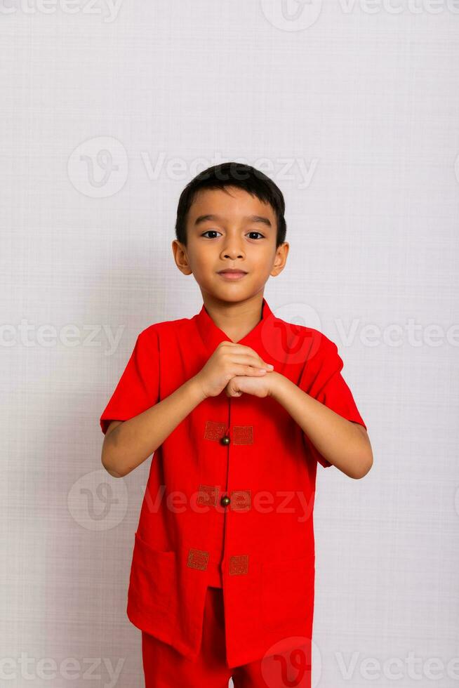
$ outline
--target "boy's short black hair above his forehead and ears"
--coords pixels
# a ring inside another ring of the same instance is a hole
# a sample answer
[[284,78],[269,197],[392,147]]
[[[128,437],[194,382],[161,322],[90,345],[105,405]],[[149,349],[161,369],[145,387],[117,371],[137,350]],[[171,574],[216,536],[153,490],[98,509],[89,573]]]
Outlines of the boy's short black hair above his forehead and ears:
[[227,186],[244,189],[263,203],[269,203],[277,219],[276,248],[284,244],[287,225],[284,218],[285,201],[281,190],[260,170],[239,162],[224,162],[208,167],[192,179],[180,194],[175,221],[175,236],[187,246],[187,216],[197,193],[202,189],[224,189]]

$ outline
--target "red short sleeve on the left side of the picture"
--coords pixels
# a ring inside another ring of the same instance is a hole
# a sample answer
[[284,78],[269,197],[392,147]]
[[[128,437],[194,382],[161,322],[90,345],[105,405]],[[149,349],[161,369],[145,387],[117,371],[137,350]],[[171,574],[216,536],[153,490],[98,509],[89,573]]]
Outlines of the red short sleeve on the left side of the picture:
[[154,326],[142,331],[119,383],[100,416],[102,432],[112,421],[128,421],[158,402],[159,344]]

